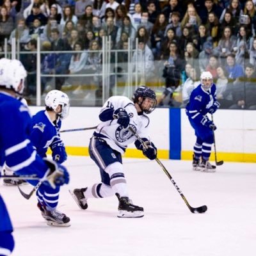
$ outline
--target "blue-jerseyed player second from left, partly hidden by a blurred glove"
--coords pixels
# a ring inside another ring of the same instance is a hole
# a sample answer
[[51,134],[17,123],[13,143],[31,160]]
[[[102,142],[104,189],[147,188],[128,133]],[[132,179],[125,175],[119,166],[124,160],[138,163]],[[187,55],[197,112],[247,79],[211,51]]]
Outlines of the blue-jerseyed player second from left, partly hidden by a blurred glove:
[[[52,151],[52,159],[57,163],[67,160],[67,153],[63,141],[60,138],[61,120],[68,116],[69,99],[66,93],[52,90],[45,97],[45,110],[39,111],[32,117],[30,140],[40,157],[46,157],[47,149]],[[48,211],[56,209],[60,194],[60,186],[50,188],[40,186],[36,191],[38,208],[44,214],[44,208]],[[49,225],[69,225],[69,218],[58,212],[58,220],[48,221]],[[59,220],[60,219],[60,220]],[[66,221],[63,221],[66,220]],[[56,223],[57,222],[57,223]],[[63,223],[64,222],[64,223]]]

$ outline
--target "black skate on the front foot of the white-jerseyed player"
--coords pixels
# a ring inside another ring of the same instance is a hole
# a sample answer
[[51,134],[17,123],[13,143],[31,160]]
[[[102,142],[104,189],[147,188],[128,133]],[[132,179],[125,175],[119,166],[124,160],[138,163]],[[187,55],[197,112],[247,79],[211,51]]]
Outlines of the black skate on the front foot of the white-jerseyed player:
[[120,197],[118,193],[116,196],[119,201],[118,218],[141,218],[144,216],[143,207],[133,205],[127,196]]

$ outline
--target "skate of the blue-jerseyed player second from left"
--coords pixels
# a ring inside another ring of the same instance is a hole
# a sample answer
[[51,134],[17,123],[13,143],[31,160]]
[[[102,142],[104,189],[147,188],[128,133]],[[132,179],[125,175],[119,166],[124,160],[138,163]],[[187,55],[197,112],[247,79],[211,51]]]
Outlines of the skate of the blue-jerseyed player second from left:
[[66,214],[57,210],[47,211],[47,209],[39,203],[37,204],[37,207],[40,209],[43,218],[47,221],[47,225],[54,227],[70,226],[70,218],[68,218]]

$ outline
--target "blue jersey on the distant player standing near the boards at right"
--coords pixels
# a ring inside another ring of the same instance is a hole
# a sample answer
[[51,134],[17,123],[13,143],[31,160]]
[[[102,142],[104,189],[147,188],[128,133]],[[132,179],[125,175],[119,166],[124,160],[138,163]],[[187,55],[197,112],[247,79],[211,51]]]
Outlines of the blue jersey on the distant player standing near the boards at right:
[[212,84],[209,91],[204,90],[199,84],[191,93],[189,102],[186,106],[186,113],[189,119],[195,123],[200,123],[204,116],[209,113],[209,109],[216,101],[216,85]]

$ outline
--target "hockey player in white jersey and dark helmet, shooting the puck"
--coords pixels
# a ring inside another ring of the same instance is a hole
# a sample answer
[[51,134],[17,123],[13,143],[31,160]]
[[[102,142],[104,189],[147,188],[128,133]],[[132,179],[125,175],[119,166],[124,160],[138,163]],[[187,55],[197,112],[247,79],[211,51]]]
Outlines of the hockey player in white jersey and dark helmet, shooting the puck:
[[[118,217],[138,218],[144,216],[143,207],[133,205],[122,165],[122,154],[127,145],[134,143],[150,160],[157,157],[157,148],[148,135],[149,118],[145,114],[156,108],[156,93],[147,86],[140,86],[132,97],[110,97],[102,107],[99,118],[102,121],[90,139],[89,153],[100,169],[101,182],[87,188],[70,191],[81,209],[88,207],[88,198],[104,198],[116,195],[119,201]],[[131,127],[147,143],[141,142],[129,130]]]

